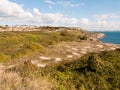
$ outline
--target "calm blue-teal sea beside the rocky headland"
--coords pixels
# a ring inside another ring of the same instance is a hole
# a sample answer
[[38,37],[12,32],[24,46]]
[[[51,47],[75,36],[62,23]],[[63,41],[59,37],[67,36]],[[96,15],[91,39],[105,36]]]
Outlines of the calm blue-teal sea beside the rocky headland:
[[102,32],[106,36],[100,39],[102,42],[120,44],[120,32]]

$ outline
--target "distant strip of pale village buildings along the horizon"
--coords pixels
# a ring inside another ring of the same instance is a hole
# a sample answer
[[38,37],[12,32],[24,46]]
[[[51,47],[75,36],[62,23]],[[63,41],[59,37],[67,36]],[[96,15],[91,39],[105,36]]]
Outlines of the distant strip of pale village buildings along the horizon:
[[63,29],[75,29],[75,30],[82,30],[82,28],[75,28],[75,27],[52,27],[52,26],[35,26],[35,25],[15,25],[15,26],[0,26],[1,31],[41,31],[41,30],[63,30]]

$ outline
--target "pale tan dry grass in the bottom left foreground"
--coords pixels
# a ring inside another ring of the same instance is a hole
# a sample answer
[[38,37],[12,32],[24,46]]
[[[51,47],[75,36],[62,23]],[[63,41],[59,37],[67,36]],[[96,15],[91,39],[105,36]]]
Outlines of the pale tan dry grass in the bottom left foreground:
[[47,80],[21,77],[15,72],[0,75],[0,90],[51,90],[53,85]]

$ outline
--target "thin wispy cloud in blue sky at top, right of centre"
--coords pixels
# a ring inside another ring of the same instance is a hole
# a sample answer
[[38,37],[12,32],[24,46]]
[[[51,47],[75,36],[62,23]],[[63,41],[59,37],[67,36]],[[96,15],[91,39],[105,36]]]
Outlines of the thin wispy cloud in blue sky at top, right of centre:
[[84,3],[72,3],[70,1],[57,2],[57,4],[62,5],[64,7],[80,7],[85,5]]

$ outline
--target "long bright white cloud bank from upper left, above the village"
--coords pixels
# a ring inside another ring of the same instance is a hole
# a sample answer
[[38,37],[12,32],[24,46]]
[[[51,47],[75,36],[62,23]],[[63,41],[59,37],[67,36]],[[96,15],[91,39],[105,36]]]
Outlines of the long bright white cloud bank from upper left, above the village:
[[87,22],[86,19],[67,18],[62,13],[42,13],[37,8],[28,12],[21,5],[9,0],[0,2],[0,20],[6,22],[62,26],[82,25]]

